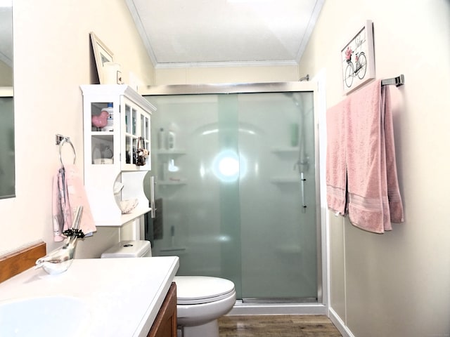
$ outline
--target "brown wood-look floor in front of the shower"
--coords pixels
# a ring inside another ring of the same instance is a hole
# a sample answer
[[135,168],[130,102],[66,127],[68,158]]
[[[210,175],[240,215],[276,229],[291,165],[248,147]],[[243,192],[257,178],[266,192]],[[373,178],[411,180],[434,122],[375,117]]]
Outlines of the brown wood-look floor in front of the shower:
[[224,316],[220,337],[342,337],[326,316],[258,315]]

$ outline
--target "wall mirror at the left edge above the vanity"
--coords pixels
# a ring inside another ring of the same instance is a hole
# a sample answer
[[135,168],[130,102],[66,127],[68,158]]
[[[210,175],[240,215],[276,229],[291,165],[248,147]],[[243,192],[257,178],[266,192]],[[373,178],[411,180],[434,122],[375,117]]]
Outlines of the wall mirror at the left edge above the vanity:
[[15,197],[13,1],[0,0],[0,199]]

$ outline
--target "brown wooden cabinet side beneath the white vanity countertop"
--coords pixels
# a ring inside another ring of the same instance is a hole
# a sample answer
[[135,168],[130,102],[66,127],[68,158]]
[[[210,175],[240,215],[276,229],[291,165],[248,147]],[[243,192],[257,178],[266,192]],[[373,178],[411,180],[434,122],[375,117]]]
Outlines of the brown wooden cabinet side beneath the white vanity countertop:
[[172,282],[147,337],[176,337],[176,284]]

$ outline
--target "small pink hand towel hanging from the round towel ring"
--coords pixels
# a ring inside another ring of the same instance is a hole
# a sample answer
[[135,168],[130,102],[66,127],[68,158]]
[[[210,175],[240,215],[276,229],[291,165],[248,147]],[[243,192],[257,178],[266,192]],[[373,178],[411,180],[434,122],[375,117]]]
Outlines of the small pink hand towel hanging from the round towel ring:
[[63,232],[72,228],[73,213],[83,206],[79,229],[86,237],[96,232],[91,207],[84,190],[83,180],[75,165],[59,169],[53,178],[53,239],[63,241]]

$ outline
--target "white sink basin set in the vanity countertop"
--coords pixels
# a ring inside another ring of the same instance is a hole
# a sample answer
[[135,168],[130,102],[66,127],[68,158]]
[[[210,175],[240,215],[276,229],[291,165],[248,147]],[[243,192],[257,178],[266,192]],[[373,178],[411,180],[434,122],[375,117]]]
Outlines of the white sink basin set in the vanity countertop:
[[0,301],[0,336],[83,336],[89,317],[87,305],[75,297],[4,300]]

